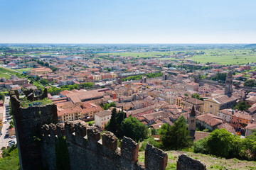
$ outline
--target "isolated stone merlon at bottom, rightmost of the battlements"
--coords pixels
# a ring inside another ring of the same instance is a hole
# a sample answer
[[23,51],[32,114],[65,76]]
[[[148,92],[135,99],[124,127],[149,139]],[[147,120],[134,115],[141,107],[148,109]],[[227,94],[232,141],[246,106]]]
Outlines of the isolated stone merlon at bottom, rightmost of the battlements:
[[206,170],[206,165],[186,154],[178,156],[177,170]]

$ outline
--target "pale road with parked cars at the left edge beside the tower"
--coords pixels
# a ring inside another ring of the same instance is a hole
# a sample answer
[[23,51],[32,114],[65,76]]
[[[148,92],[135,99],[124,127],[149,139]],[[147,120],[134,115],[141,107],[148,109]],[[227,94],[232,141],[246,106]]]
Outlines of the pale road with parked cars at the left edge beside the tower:
[[[11,116],[9,114],[6,114],[6,106],[9,106],[10,97],[5,97],[4,100],[4,114],[3,114],[3,128],[1,130],[2,135],[0,137],[0,149],[2,147],[7,147],[9,138],[6,136],[6,132],[9,129]],[[7,120],[7,123],[4,123],[4,121]]]

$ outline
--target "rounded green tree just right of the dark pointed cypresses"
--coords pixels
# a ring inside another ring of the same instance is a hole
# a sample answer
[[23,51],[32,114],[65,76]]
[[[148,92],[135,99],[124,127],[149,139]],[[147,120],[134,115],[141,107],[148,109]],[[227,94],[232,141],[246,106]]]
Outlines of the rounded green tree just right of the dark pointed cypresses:
[[131,137],[132,140],[138,142],[147,137],[149,130],[137,118],[130,116],[122,122],[119,134],[120,137]]

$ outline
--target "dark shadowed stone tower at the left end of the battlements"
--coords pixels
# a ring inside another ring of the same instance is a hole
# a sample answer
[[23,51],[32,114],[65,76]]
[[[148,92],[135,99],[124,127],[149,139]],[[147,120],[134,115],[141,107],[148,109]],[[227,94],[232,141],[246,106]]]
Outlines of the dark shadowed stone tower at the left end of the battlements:
[[10,91],[11,107],[18,143],[21,169],[38,169],[41,164],[41,127],[57,123],[57,106],[32,106],[22,108],[15,91]]

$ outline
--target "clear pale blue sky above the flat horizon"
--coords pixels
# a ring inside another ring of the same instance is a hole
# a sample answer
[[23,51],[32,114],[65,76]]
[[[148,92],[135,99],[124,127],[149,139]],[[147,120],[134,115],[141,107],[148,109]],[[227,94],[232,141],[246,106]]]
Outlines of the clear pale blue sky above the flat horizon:
[[255,0],[0,0],[0,43],[256,43]]

